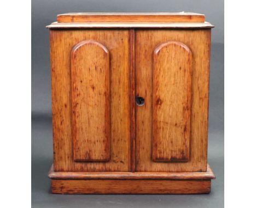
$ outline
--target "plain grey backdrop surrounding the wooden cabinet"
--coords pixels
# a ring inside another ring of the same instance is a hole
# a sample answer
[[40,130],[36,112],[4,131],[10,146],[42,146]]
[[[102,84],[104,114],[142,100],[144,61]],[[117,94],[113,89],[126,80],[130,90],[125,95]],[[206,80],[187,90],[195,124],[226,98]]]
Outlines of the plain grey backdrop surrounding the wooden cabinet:
[[[60,195],[50,193],[53,163],[49,32],[56,15],[70,12],[179,12],[211,22],[208,162],[217,176],[210,194]],[[32,207],[224,207],[224,1],[32,0]]]

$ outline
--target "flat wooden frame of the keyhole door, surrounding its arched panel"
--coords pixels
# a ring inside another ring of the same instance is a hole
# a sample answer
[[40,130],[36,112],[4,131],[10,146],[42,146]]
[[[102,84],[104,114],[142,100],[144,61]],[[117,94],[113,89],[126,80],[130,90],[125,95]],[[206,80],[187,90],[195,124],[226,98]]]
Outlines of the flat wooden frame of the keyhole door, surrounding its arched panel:
[[[208,129],[208,84],[210,72],[211,30],[136,30],[136,95],[145,98],[136,106],[137,172],[206,172]],[[161,43],[179,41],[190,48],[191,119],[188,162],[153,162],[153,52]]]

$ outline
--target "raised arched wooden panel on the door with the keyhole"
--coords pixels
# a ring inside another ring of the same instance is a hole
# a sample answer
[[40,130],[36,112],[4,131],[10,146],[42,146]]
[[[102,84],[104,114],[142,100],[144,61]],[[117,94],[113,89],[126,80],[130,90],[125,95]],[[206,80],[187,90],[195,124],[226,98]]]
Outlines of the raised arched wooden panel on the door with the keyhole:
[[153,145],[155,162],[189,160],[191,52],[167,41],[153,52]]

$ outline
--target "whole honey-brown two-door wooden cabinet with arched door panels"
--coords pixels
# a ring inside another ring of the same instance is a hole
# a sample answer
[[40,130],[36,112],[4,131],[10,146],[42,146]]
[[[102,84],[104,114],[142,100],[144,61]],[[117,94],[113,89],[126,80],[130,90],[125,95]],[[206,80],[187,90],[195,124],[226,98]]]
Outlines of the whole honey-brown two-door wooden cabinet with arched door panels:
[[204,15],[57,20],[48,26],[53,193],[209,193]]

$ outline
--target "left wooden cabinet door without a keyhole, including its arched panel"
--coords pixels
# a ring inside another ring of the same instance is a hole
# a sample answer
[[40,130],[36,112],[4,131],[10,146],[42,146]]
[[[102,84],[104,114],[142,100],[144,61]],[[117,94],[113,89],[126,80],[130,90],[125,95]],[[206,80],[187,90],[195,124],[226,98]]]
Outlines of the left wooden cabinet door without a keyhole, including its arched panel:
[[51,30],[55,171],[130,170],[129,30]]

